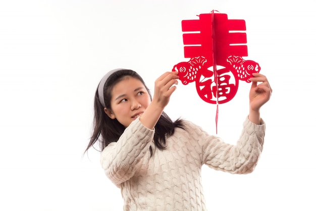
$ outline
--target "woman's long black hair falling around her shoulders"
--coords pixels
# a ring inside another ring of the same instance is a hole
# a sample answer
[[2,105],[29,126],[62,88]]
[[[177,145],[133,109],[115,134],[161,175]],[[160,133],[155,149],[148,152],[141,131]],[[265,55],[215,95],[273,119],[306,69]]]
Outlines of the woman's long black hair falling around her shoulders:
[[[111,109],[110,102],[112,98],[113,87],[126,77],[133,77],[140,80],[145,86],[150,96],[150,100],[152,100],[150,91],[145,85],[145,82],[141,78],[141,76],[133,70],[122,69],[112,73],[104,84],[103,96],[106,108]],[[154,126],[155,133],[153,136],[153,140],[155,146],[160,150],[166,149],[166,138],[173,135],[175,132],[175,128],[177,127],[184,129],[183,120],[178,118],[177,120],[172,121],[172,119],[165,112],[163,112],[156,125]],[[90,147],[94,146],[96,142],[98,142],[99,149],[100,151],[102,151],[110,143],[117,142],[120,136],[123,134],[124,130],[125,127],[117,119],[111,119],[104,112],[104,107],[101,105],[99,100],[98,89],[96,89],[94,96],[93,132],[90,138],[90,142],[85,149],[85,152],[87,152]],[[150,155],[152,156],[151,147],[149,148],[149,150]]]

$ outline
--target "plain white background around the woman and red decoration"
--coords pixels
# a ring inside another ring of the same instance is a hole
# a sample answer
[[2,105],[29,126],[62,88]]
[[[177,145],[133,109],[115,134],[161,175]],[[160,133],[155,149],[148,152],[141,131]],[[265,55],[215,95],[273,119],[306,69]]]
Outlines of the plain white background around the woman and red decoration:
[[[120,190],[103,174],[89,141],[101,77],[131,68],[153,82],[183,55],[181,21],[218,10],[246,21],[248,58],[273,96],[261,109],[264,151],[249,175],[207,167],[208,210],[315,210],[314,2],[1,1],[0,210],[122,210]],[[218,135],[239,137],[250,84],[220,105]],[[166,112],[215,134],[213,104],[194,84],[178,85]]]

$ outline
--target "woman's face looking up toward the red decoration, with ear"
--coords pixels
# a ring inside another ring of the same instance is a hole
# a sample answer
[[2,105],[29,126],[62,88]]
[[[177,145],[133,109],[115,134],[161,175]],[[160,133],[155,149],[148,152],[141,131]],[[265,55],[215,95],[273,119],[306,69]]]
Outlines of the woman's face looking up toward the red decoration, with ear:
[[149,104],[150,96],[143,83],[128,76],[113,87],[112,108],[104,108],[104,111],[127,128],[133,120],[142,115]]

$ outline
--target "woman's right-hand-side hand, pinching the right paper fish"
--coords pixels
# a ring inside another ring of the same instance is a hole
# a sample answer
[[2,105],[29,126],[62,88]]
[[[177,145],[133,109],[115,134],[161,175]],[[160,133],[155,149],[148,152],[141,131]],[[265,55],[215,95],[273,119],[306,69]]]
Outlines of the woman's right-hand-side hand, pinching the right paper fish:
[[270,100],[272,89],[265,75],[260,73],[253,73],[252,75],[253,77],[250,78],[252,85],[249,92],[249,109],[259,112],[261,106]]

